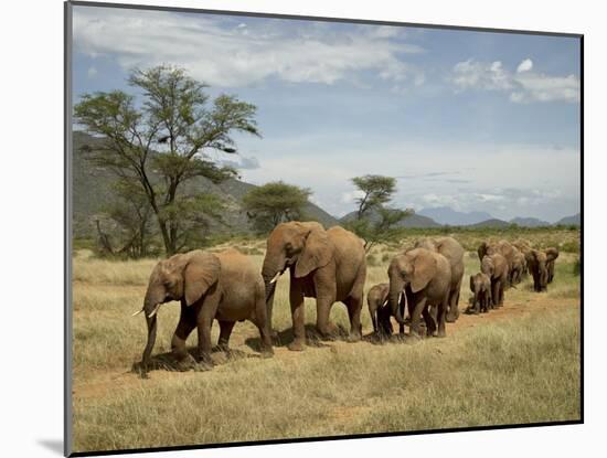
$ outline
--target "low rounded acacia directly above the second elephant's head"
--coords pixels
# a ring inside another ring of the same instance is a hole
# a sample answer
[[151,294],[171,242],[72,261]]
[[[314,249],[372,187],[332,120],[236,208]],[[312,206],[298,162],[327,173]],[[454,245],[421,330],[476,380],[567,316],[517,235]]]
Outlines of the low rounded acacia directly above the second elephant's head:
[[300,220],[310,194],[308,189],[274,181],[248,191],[243,204],[255,227],[267,232],[284,221]]

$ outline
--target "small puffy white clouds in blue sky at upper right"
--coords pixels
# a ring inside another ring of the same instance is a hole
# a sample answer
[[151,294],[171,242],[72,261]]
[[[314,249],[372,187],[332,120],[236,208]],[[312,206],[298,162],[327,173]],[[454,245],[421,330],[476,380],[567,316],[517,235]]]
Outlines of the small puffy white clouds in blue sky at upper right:
[[530,58],[517,72],[505,70],[500,61],[492,63],[468,60],[454,66],[450,77],[456,90],[481,89],[508,92],[513,103],[579,102],[579,78],[575,75],[551,76],[532,71]]

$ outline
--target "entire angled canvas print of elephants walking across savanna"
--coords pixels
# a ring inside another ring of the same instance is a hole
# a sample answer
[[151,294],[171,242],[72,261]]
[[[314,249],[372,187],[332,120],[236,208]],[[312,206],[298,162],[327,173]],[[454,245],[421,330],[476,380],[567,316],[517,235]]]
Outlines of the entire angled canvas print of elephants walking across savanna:
[[583,420],[582,35],[65,11],[67,454]]

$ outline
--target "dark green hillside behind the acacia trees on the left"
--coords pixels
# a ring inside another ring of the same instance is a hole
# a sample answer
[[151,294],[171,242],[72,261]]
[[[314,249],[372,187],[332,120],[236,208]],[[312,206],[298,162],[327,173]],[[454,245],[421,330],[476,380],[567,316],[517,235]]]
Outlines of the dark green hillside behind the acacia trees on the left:
[[[113,201],[111,183],[115,175],[109,170],[93,166],[86,159],[88,152],[82,150],[84,145],[88,145],[94,150],[102,141],[102,139],[79,131],[75,131],[73,136],[72,195],[74,236],[76,238],[95,235],[94,216],[102,213],[104,206]],[[254,184],[236,179],[228,179],[220,184],[214,184],[205,178],[196,177],[184,183],[184,189],[190,193],[198,191],[220,195],[226,204],[226,211],[222,216],[228,226],[217,225],[216,228],[234,233],[251,230],[251,223],[242,207],[242,199],[253,188],[255,188]],[[307,220],[318,221],[324,227],[339,224],[337,219],[313,203],[307,204],[303,212]]]

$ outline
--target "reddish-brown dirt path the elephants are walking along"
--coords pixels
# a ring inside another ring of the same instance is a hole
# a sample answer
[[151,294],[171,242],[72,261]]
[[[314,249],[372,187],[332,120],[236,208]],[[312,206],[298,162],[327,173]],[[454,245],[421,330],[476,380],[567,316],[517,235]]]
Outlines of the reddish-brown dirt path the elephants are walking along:
[[[455,338],[459,332],[465,332],[467,329],[475,328],[477,326],[483,326],[486,323],[499,322],[502,320],[512,320],[517,318],[523,318],[525,316],[558,310],[572,307],[579,307],[578,298],[552,298],[544,294],[529,295],[522,300],[507,301],[505,305],[499,309],[491,310],[489,313],[481,315],[466,315],[464,313],[465,305],[460,305],[461,311],[459,319],[455,323],[447,324],[447,339]],[[395,327],[397,329],[397,327]],[[370,330],[365,330],[370,332]],[[236,360],[244,358],[258,358],[245,343],[243,335],[234,335],[233,349],[237,353]],[[307,354],[316,353],[318,351],[330,350],[333,352],[348,352],[360,350],[359,345],[372,345],[371,342],[363,341],[356,344],[351,344],[343,341],[323,342],[320,348],[310,348],[306,352],[291,352],[286,347],[275,347],[275,359],[285,361],[285,363],[296,363],[297,359],[306,358]],[[354,349],[355,347],[355,349]],[[214,353],[214,361],[217,363],[215,370],[221,371],[223,364],[227,362],[223,353]],[[195,372],[170,372],[170,371],[153,371],[153,376],[149,380],[142,381],[138,374],[131,372],[128,368],[123,370],[104,370],[87,372],[86,380],[74,381],[72,394],[74,402],[85,401],[89,398],[104,397],[109,393],[118,394],[121,391],[132,390],[148,390],[159,386],[170,380],[187,380],[187,377],[200,376]],[[336,414],[338,417],[340,413]]]

